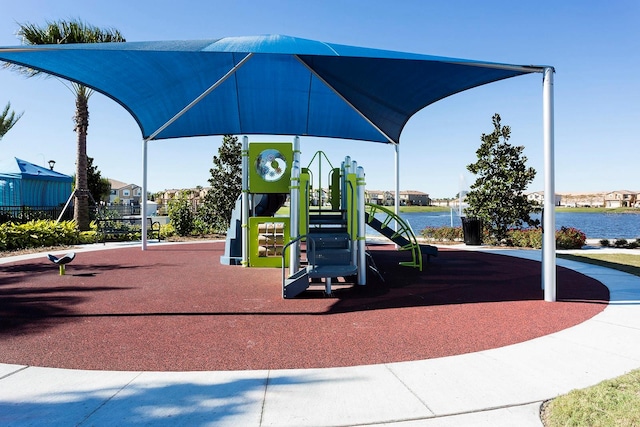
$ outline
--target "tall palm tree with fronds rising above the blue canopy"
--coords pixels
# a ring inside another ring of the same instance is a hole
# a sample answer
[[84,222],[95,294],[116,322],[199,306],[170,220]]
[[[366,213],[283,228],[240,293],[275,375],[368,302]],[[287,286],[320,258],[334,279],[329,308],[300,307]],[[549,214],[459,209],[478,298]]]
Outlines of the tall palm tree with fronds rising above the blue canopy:
[[[100,29],[80,20],[47,22],[44,27],[35,24],[18,24],[17,35],[24,44],[68,44],[124,42],[124,37],[115,29]],[[40,71],[17,67],[28,76]],[[89,230],[89,188],[87,184],[87,129],[89,127],[89,98],[93,90],[71,83],[70,89],[76,96],[76,112],[73,118],[77,135],[76,150],[76,192],[73,218],[81,231]]]

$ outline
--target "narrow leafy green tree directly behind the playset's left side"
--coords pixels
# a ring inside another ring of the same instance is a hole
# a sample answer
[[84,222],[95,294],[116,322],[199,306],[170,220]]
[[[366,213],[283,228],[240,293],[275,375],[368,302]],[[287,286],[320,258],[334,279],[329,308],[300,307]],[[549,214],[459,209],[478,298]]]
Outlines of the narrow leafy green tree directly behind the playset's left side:
[[210,169],[211,189],[204,197],[198,216],[217,232],[229,227],[236,199],[242,191],[242,144],[238,137],[225,135]]

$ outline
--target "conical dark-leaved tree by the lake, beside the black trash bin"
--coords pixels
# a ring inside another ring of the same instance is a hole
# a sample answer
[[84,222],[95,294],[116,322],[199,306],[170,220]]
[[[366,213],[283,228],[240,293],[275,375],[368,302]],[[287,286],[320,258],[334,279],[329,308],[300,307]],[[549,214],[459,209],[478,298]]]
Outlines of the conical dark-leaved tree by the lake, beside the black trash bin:
[[467,216],[482,220],[485,229],[497,242],[503,241],[512,227],[539,225],[531,218],[540,212],[539,205],[527,199],[527,186],[536,176],[535,169],[526,166],[523,146],[513,146],[507,141],[511,128],[502,126],[500,115],[492,117],[493,132],[482,134],[482,143],[476,151],[478,161],[467,165],[477,176],[467,193]]

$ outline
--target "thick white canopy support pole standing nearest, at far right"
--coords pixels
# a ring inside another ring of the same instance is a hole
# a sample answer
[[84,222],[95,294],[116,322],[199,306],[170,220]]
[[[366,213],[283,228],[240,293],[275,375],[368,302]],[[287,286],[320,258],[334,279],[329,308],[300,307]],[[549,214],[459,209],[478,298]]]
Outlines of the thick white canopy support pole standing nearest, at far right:
[[545,67],[542,80],[544,133],[544,211],[542,236],[542,287],[544,300],[556,300],[556,210],[554,170],[553,67]]

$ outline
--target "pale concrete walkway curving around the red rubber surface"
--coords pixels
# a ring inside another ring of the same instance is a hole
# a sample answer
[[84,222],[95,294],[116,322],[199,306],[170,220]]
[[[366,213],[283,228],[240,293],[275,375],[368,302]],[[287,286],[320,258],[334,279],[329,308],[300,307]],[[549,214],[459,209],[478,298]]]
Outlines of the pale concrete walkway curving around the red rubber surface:
[[[492,252],[540,259],[539,251]],[[552,335],[351,368],[111,372],[0,364],[0,424],[541,426],[544,400],[640,367],[640,277],[558,264],[604,283],[611,301]]]

